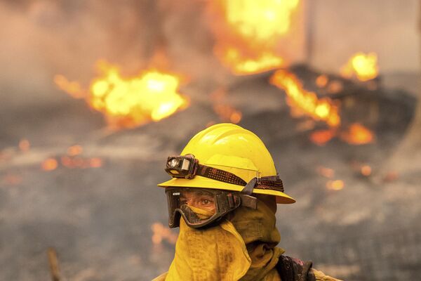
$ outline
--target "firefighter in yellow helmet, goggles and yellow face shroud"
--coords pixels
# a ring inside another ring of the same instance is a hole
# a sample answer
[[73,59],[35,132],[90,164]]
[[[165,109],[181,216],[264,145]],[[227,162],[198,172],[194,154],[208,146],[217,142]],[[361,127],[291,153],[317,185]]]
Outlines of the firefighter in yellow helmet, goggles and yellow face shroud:
[[160,183],[168,225],[180,227],[168,273],[154,281],[336,280],[276,247],[276,204],[283,192],[274,161],[260,138],[234,124],[200,131],[181,155],[168,157]]

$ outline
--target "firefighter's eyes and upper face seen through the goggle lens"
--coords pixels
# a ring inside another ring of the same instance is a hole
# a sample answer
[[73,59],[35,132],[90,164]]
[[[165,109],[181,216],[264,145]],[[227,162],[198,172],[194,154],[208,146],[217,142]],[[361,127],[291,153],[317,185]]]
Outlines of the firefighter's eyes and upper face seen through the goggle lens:
[[180,203],[204,209],[215,214],[215,198],[206,190],[185,190],[180,192]]

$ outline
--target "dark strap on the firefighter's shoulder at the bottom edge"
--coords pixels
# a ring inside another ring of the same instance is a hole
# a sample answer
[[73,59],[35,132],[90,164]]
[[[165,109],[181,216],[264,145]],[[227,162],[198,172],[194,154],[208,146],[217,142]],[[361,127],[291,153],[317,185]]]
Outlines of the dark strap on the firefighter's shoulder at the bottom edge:
[[316,281],[311,270],[312,265],[311,261],[305,262],[290,256],[279,256],[276,270],[282,281]]

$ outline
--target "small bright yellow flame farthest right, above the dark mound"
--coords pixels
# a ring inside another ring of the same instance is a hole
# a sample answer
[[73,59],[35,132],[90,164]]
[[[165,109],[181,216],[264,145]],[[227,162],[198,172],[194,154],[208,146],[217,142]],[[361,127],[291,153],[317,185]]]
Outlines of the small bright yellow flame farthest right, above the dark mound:
[[340,73],[346,78],[351,78],[355,75],[360,81],[374,79],[379,73],[377,55],[375,53],[356,53],[341,68]]

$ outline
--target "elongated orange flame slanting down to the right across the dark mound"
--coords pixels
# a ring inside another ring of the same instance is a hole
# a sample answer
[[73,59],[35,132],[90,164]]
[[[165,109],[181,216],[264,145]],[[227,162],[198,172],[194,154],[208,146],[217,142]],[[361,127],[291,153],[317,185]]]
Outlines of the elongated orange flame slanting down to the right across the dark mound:
[[316,121],[326,122],[329,126],[339,126],[338,106],[330,98],[317,98],[316,93],[305,91],[294,74],[286,70],[277,70],[270,78],[270,83],[286,91],[287,103],[295,110],[309,115]]

